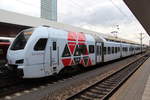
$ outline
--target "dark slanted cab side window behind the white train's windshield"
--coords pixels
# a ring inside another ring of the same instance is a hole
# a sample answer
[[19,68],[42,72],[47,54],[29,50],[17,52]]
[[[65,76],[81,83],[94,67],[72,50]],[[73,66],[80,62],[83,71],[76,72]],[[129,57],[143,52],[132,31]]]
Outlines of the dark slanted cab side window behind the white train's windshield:
[[38,40],[38,42],[34,46],[35,51],[41,51],[44,50],[46,47],[47,38],[41,38]]

